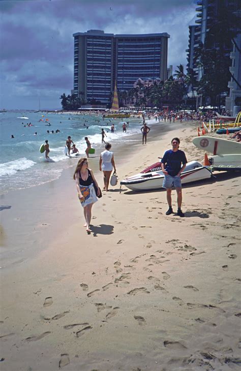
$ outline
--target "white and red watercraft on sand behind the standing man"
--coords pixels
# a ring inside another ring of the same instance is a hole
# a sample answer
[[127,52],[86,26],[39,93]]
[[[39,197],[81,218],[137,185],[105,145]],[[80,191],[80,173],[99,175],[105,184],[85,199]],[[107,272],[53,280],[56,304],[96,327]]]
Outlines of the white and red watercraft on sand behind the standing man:
[[[157,169],[158,166],[153,167]],[[162,170],[151,170],[149,172],[142,172],[120,182],[121,185],[126,185],[127,188],[133,191],[156,190],[163,188],[164,174]],[[191,161],[187,164],[185,171],[180,175],[182,184],[190,183],[192,181],[208,179],[212,173],[202,164],[197,161]]]

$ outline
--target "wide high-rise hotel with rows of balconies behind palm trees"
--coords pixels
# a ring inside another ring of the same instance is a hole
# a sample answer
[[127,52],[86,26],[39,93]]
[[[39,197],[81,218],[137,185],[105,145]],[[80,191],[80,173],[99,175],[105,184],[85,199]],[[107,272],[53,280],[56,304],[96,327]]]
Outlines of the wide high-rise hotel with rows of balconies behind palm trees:
[[74,36],[74,94],[85,101],[110,102],[118,90],[130,90],[138,79],[167,78],[167,44],[163,34],[114,35],[89,30]]

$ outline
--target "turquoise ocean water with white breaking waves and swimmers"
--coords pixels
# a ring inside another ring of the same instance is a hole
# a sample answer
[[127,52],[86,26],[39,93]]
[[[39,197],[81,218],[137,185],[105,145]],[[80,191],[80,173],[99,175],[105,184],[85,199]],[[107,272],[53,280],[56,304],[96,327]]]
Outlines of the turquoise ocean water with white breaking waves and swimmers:
[[[22,118],[26,117],[26,118]],[[101,144],[101,129],[107,134],[106,141],[112,145],[121,145],[124,141],[132,142],[133,135],[140,133],[141,118],[129,117],[127,133],[123,133],[122,119],[102,119],[96,114],[67,114],[53,112],[7,111],[0,113],[1,163],[0,181],[2,193],[10,190],[33,187],[57,179],[63,169],[73,166],[78,158],[85,156],[88,137],[97,154],[104,149]],[[27,123],[33,125],[27,126]],[[114,122],[116,131],[110,133]],[[49,125],[50,124],[50,125]],[[149,125],[149,124],[147,124]],[[59,133],[55,133],[56,130]],[[49,134],[47,133],[49,130]],[[51,131],[54,133],[51,134]],[[35,135],[37,133],[37,135]],[[12,139],[11,136],[14,136]],[[76,144],[80,156],[65,156],[64,147],[68,136]],[[48,139],[52,162],[45,160],[45,153],[40,153],[41,144]],[[93,161],[99,161],[98,157]]]

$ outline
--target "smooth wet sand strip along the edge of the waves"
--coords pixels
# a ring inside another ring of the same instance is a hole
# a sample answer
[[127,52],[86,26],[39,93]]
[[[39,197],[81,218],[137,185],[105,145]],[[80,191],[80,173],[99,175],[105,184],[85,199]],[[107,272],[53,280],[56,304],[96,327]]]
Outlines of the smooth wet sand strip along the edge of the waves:
[[[150,123],[152,124],[152,130],[147,137],[147,146],[149,147],[152,146],[152,142],[160,140],[163,135],[175,130],[180,125],[179,123],[171,124],[171,126],[164,123],[153,125],[155,124],[154,119]],[[131,164],[132,156],[142,149],[141,140],[141,134],[133,135],[131,143],[129,141],[125,142],[125,136],[123,136],[123,143],[118,143],[116,146],[115,144],[112,145],[117,174],[118,168],[123,163]],[[95,156],[90,158],[89,164],[98,182],[100,182],[100,187],[102,187],[103,176],[99,171],[101,150],[103,148],[99,149]],[[157,153],[156,158],[159,154],[160,152]],[[156,162],[155,158],[153,162]],[[2,218],[4,216],[1,235],[1,245],[3,246],[2,268],[15,266],[18,263],[23,264],[29,258],[34,258],[36,254],[46,249],[46,247],[43,248],[42,246],[54,240],[59,224],[61,224],[62,230],[63,228],[68,228],[72,221],[79,220],[82,217],[81,213],[79,215],[79,208],[75,207],[75,202],[72,202],[75,195],[75,184],[72,174],[76,165],[77,161],[68,168],[63,169],[57,179],[34,185],[30,188],[10,190],[0,195],[3,208]],[[70,210],[71,213],[74,210],[74,213],[71,218],[62,218],[61,214],[63,210],[65,213],[65,203],[68,195],[72,196]],[[57,223],[55,219],[57,219]],[[13,229],[15,233],[12,233]],[[23,233],[23,231],[25,232]],[[17,248],[14,247],[16,235],[20,236]],[[34,249],[29,249],[28,246],[32,244],[34,244]],[[9,245],[10,248],[7,247]]]

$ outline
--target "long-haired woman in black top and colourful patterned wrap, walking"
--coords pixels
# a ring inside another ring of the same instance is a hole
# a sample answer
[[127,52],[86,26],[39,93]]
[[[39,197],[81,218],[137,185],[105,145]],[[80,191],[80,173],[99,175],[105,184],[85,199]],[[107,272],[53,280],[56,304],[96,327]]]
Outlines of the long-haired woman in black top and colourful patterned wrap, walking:
[[92,206],[98,201],[95,187],[98,189],[98,196],[100,195],[100,190],[93,171],[88,169],[88,161],[86,158],[82,158],[78,161],[74,172],[74,180],[80,203],[84,209],[84,227],[86,227],[86,232],[89,234],[91,233],[89,224],[91,223]]

